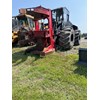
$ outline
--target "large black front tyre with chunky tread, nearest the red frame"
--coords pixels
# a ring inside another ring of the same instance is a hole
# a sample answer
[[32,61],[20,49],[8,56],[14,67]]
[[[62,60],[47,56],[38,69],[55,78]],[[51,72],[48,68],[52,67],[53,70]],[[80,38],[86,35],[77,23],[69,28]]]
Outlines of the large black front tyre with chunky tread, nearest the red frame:
[[65,30],[59,35],[59,47],[62,50],[71,49],[74,45],[74,35],[72,31]]

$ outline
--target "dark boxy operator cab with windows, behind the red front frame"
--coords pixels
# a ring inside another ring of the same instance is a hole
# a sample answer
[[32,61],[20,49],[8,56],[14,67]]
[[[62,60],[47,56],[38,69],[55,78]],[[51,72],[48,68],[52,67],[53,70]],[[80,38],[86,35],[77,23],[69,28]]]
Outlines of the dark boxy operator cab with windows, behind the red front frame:
[[58,29],[62,29],[64,26],[67,26],[69,22],[69,11],[66,7],[61,7],[52,10],[52,19],[54,29],[55,27]]

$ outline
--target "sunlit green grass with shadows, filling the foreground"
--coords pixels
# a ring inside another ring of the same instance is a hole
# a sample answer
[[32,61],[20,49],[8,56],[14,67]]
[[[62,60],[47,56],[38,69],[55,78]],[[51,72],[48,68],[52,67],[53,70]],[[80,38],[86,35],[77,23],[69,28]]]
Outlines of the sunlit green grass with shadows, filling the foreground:
[[13,48],[13,100],[87,100],[87,69],[78,55],[44,58]]

